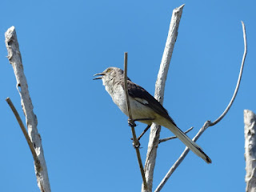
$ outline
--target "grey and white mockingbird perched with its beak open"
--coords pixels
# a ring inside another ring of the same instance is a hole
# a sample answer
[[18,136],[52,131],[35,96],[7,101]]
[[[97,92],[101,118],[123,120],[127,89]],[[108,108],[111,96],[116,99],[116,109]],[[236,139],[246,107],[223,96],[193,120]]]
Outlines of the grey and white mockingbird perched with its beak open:
[[[94,79],[102,79],[103,86],[105,86],[106,91],[110,94],[114,103],[128,116],[123,74],[123,70],[117,67],[109,67],[100,74],[94,74],[94,76],[99,76]],[[207,163],[211,162],[210,158],[202,151],[201,147],[193,142],[178,128],[178,126],[176,126],[167,110],[151,94],[141,86],[131,82],[130,78],[127,78],[127,88],[130,100],[130,110],[134,119],[146,119],[138,121],[146,123],[148,126],[153,122],[160,126],[165,126],[190,150],[192,150],[194,154],[197,154]]]

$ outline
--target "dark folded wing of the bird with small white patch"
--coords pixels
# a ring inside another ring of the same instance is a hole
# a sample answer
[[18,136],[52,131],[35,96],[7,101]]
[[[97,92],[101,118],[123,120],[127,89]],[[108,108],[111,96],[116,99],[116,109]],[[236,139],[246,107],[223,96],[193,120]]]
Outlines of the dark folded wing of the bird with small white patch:
[[[122,85],[124,88],[124,85]],[[136,101],[140,102],[144,106],[150,107],[157,114],[162,115],[164,118],[169,119],[170,122],[176,126],[174,120],[170,118],[167,110],[158,102],[151,94],[149,94],[141,86],[138,86],[134,82],[127,81],[128,94],[130,97],[134,98]]]

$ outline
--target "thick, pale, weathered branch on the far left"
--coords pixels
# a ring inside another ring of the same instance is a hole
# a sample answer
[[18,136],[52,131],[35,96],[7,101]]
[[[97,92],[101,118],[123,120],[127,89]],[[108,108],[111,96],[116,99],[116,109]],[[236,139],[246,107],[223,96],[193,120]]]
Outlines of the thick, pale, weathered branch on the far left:
[[[38,121],[33,112],[33,105],[31,102],[26,76],[23,71],[22,56],[19,51],[17,35],[14,26],[11,26],[6,31],[6,49],[8,51],[8,59],[13,66],[14,74],[17,80],[17,90],[21,96],[22,110],[26,116],[26,126],[31,142],[34,144],[34,149],[40,162],[40,169],[34,162],[35,174],[38,180],[38,187],[43,192],[50,192],[50,182],[47,173],[46,161],[42,150],[42,141],[40,134],[38,134]],[[34,159],[36,161],[36,159]]]

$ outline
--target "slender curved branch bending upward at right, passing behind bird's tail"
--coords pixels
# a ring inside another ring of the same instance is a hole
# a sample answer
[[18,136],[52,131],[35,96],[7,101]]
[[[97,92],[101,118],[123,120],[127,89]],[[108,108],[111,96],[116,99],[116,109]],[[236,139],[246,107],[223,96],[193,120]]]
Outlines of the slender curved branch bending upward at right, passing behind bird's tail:
[[[222,113],[222,115],[216,121],[214,121],[214,122],[206,121],[205,122],[205,124],[202,126],[202,128],[198,131],[198,134],[196,134],[196,136],[194,136],[194,138],[192,139],[194,142],[196,142],[198,140],[198,138],[202,135],[202,133],[209,126],[214,126],[222,120],[222,118],[225,116],[225,114],[228,112],[228,110],[230,110],[230,107],[231,107],[232,103],[234,102],[234,98],[235,98],[236,94],[238,93],[239,84],[240,84],[240,81],[241,81],[241,78],[242,78],[242,69],[243,69],[243,66],[244,66],[244,62],[246,60],[246,53],[247,53],[246,27],[245,27],[243,22],[242,22],[242,32],[243,32],[245,50],[244,50],[244,54],[243,54],[243,57],[242,57],[242,64],[241,64],[240,73],[239,73],[239,76],[238,76],[238,83],[237,83],[236,89],[234,90],[233,97],[231,98],[229,105],[226,107],[226,110]],[[174,165],[170,168],[170,170],[168,171],[166,176],[162,179],[162,181],[158,185],[157,189],[154,190],[154,192],[159,192],[162,189],[162,187],[166,184],[167,180],[170,178],[170,175],[174,173],[174,170],[176,170],[178,165],[183,161],[183,159],[186,157],[186,154],[188,154],[189,151],[190,150],[186,147],[186,149],[183,151],[183,153],[178,158],[178,160],[174,163]]]

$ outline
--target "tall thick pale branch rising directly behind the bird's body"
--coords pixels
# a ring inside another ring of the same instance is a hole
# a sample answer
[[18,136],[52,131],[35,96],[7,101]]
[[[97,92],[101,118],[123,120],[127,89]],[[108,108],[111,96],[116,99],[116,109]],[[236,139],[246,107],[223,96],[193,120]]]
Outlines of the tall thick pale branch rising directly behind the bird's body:
[[[185,6],[185,4],[173,10],[170,21],[170,29],[166,40],[166,47],[162,55],[162,62],[158,71],[158,79],[155,84],[154,98],[156,98],[161,104],[163,103],[166,78],[170,66],[170,58],[174,50],[176,38],[178,36],[178,26],[182,17],[183,6]],[[154,165],[157,157],[160,130],[160,126],[157,126],[156,124],[153,124],[150,128],[150,141],[148,144],[146,162],[144,167],[148,191],[150,192],[152,191]],[[142,191],[146,192],[146,190],[144,190],[143,184]]]

